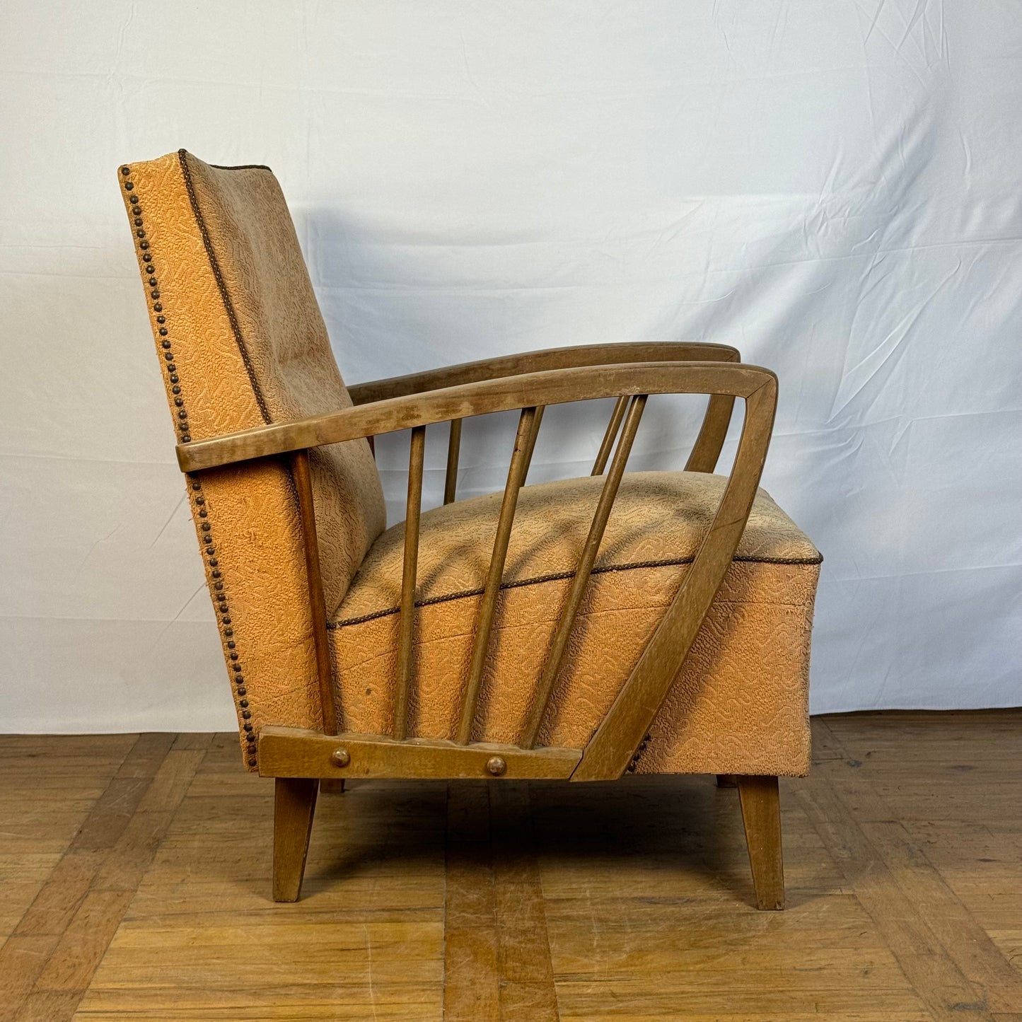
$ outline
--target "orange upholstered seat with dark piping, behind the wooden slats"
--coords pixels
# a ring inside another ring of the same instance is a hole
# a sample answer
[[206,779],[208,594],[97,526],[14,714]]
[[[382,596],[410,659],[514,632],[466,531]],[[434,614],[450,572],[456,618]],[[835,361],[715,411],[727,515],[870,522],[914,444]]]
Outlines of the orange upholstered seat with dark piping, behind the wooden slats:
[[[522,489],[473,738],[518,740],[603,485]],[[541,744],[583,747],[683,582],[727,479],[624,476],[607,522]],[[421,517],[410,733],[452,738],[501,494]],[[392,727],[404,524],[370,548],[332,615],[347,731]],[[640,772],[802,774],[808,650],[821,557],[759,491],[734,563],[652,729]]]

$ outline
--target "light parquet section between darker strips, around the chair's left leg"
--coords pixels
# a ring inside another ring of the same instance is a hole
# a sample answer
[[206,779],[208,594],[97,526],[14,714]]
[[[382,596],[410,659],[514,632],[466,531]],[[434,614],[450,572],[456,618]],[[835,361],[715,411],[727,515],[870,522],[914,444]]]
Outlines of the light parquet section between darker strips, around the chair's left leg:
[[78,1019],[438,1019],[446,791],[320,799],[303,899],[269,897],[273,784],[216,736]]

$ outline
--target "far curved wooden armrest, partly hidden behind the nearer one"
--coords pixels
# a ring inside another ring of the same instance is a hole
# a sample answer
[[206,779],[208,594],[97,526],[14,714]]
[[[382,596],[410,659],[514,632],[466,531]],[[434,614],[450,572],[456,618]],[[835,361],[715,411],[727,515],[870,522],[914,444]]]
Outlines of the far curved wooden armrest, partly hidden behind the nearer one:
[[614,344],[579,344],[572,347],[548,347],[520,355],[504,355],[477,362],[443,366],[407,376],[372,380],[350,386],[347,392],[356,405],[366,405],[389,398],[438,390],[440,387],[477,383],[504,376],[544,372],[549,369],[573,369],[579,366],[608,366],[638,362],[740,362],[737,347],[703,341],[652,340]]

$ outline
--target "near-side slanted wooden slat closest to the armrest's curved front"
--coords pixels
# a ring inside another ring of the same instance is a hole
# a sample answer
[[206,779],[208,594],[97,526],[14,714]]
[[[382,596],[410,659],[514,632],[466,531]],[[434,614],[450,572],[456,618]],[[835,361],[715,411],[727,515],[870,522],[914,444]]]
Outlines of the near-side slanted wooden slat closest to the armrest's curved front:
[[635,440],[636,431],[639,429],[639,420],[642,418],[645,407],[645,394],[633,398],[629,406],[628,418],[624,420],[621,438],[617,445],[617,450],[614,452],[614,460],[611,462],[606,481],[603,483],[600,501],[593,515],[593,523],[589,527],[586,546],[583,547],[582,557],[578,559],[578,566],[575,568],[571,589],[568,592],[567,603],[561,612],[561,619],[557,624],[557,632],[554,634],[554,642],[550,649],[550,655],[547,657],[547,665],[543,669],[543,677],[540,679],[536,699],[532,701],[532,708],[525,722],[524,735],[521,742],[522,748],[532,748],[540,734],[543,715],[550,703],[550,697],[554,691],[554,683],[557,681],[557,675],[561,669],[561,662],[564,659],[564,653],[568,646],[568,638],[571,635],[571,629],[574,625],[578,607],[582,606],[582,598],[586,593],[586,586],[589,584],[589,576],[592,573],[596,555],[600,550],[603,531],[607,527],[610,509],[613,507],[614,498],[617,496],[617,487],[620,485],[621,476],[624,474],[624,465],[629,460],[632,444]]

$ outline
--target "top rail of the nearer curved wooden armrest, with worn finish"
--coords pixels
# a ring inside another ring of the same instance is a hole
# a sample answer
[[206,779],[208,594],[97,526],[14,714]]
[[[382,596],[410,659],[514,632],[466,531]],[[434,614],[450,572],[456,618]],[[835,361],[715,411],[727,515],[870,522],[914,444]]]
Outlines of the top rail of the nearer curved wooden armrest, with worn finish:
[[[177,448],[183,472],[430,423],[622,394],[708,393],[748,399],[776,377],[733,362],[643,362],[552,369],[388,398],[295,422],[259,426]],[[730,418],[730,410],[729,410]]]

